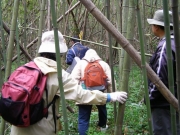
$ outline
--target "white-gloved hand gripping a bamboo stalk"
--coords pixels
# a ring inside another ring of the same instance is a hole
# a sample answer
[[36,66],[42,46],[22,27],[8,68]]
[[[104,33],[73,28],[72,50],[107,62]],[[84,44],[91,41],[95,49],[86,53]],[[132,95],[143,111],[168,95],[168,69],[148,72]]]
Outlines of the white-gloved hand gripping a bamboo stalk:
[[110,97],[111,97],[111,100],[112,102],[120,102],[121,104],[124,104],[124,102],[126,101],[127,99],[127,93],[124,92],[124,91],[121,91],[121,92],[113,92],[113,93],[109,93],[110,94]]

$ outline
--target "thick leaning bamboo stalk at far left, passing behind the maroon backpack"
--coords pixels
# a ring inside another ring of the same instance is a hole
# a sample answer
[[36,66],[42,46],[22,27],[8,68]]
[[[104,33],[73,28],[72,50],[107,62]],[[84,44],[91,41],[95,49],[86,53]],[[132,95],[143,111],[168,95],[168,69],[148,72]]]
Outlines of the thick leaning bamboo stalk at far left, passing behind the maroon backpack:
[[[7,80],[8,76],[11,73],[11,64],[12,64],[11,59],[12,59],[12,54],[13,54],[12,52],[13,52],[13,47],[14,47],[14,35],[15,35],[16,23],[17,23],[17,17],[18,17],[19,1],[20,0],[14,0],[10,37],[9,37],[9,43],[8,43],[8,48],[7,48],[5,80]],[[4,129],[5,129],[5,121],[1,118],[0,135],[4,135]]]

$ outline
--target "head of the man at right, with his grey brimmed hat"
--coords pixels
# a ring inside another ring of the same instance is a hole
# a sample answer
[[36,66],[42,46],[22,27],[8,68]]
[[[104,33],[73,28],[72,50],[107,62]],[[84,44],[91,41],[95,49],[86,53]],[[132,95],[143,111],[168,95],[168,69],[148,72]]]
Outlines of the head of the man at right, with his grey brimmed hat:
[[[173,30],[173,18],[172,18],[172,12],[169,11],[169,20],[170,20],[170,29]],[[154,16],[152,19],[147,19],[147,22],[151,24],[152,26],[152,32],[155,36],[162,37],[164,36],[164,13],[163,10],[157,10],[154,13]]]

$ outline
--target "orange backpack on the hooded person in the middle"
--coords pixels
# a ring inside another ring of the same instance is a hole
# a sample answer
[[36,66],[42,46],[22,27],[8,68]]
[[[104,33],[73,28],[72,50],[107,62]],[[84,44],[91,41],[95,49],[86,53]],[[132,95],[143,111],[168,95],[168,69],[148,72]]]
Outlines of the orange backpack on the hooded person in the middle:
[[88,90],[105,90],[107,88],[107,76],[99,61],[88,62],[84,70],[84,81],[86,89]]

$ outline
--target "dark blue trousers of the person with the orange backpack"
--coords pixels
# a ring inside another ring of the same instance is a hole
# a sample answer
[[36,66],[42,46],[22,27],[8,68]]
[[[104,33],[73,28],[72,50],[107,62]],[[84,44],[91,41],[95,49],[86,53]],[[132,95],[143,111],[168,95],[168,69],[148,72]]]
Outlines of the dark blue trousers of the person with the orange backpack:
[[[107,122],[106,105],[96,105],[98,108],[99,123],[98,126],[104,127]],[[87,135],[92,105],[78,105],[78,130],[79,135]]]

